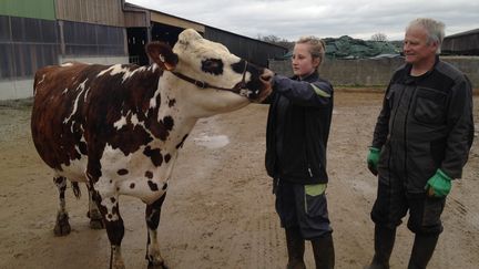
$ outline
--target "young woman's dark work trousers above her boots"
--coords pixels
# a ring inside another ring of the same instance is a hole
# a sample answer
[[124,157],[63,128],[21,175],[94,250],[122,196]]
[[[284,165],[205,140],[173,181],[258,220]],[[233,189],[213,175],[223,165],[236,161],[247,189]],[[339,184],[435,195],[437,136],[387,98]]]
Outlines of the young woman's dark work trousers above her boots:
[[305,185],[275,180],[276,211],[283,228],[298,227],[304,239],[324,237],[329,225],[326,194],[308,195]]

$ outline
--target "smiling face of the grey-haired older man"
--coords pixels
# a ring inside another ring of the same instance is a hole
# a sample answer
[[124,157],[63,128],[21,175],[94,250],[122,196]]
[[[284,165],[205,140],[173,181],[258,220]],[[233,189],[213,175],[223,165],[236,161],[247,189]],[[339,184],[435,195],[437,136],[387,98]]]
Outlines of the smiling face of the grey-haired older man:
[[407,63],[418,65],[436,58],[438,42],[427,41],[428,35],[424,28],[411,27],[407,30],[402,45]]

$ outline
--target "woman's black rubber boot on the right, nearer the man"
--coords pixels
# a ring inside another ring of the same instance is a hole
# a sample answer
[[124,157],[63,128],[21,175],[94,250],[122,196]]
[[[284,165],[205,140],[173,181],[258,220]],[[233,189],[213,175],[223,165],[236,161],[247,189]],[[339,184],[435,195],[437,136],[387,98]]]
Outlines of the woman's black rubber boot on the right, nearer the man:
[[312,245],[316,269],[333,269],[335,256],[332,234],[313,239]]

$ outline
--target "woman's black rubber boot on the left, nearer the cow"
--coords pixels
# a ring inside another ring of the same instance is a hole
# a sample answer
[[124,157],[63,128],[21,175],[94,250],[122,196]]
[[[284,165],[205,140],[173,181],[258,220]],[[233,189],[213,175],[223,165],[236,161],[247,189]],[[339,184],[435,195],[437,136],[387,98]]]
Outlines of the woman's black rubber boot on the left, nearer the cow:
[[305,269],[303,260],[305,242],[298,227],[286,228],[286,246],[288,250],[287,269]]

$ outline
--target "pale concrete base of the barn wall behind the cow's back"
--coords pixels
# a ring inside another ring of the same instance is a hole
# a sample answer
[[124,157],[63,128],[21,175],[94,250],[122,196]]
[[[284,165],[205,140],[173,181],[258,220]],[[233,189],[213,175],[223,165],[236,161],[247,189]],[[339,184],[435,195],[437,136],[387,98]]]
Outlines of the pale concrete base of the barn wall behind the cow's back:
[[[85,63],[99,64],[115,64],[128,63],[128,56],[112,56],[112,58],[61,58],[60,63],[68,61],[78,61]],[[0,100],[18,100],[28,99],[33,96],[33,77],[21,80],[1,80],[0,81]]]

